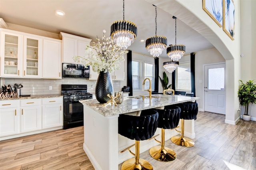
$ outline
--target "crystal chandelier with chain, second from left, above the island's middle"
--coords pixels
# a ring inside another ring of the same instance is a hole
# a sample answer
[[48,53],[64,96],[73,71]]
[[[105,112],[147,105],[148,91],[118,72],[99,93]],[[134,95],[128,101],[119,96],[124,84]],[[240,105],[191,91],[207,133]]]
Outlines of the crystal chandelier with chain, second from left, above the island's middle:
[[[156,16],[157,16],[157,12],[156,12]],[[157,28],[157,25],[156,25],[156,28]],[[146,40],[146,49],[148,50],[148,52],[150,52],[150,55],[153,55],[153,57],[159,57],[159,55],[162,54],[164,49],[166,49],[166,46],[167,46],[167,39],[162,35],[161,36],[155,35],[153,37],[149,37]]]

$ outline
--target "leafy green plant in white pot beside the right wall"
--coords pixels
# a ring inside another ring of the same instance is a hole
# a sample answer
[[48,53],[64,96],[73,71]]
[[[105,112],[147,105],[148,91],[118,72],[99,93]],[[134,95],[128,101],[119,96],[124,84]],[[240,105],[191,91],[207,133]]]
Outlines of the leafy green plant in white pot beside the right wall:
[[243,119],[246,121],[251,120],[251,115],[248,115],[249,104],[256,104],[256,84],[254,80],[249,80],[245,84],[239,80],[240,87],[238,89],[238,98],[241,106],[245,106]]

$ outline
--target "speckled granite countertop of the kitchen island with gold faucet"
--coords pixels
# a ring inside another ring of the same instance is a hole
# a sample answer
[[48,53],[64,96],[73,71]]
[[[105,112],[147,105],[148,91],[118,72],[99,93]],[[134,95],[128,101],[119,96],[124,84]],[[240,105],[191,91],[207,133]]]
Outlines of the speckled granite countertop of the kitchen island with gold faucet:
[[96,99],[94,100],[80,100],[80,103],[86,105],[93,109],[94,111],[104,115],[105,117],[112,115],[119,115],[123,113],[131,113],[135,111],[141,111],[146,109],[152,109],[156,107],[168,106],[172,104],[178,104],[183,102],[190,102],[194,100],[198,100],[200,98],[188,97],[188,96],[180,96],[180,95],[163,95],[163,94],[154,94],[152,98],[149,99],[145,96],[144,100],[142,97],[138,96],[124,96],[124,100],[122,104],[114,104],[110,103],[106,106],[100,104]]

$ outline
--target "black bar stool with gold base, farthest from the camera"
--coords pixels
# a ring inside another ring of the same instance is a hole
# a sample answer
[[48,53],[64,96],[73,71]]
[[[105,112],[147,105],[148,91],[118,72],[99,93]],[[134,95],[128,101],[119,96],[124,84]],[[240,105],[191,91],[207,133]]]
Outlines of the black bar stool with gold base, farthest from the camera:
[[[171,106],[172,105],[165,106],[165,109],[168,109]],[[181,122],[179,131],[181,133],[181,136],[174,136],[171,138],[171,141],[176,145],[180,145],[182,147],[193,147],[195,144],[194,141],[184,137],[184,120],[196,119],[196,115],[198,113],[198,104],[196,102],[185,102],[176,104],[175,106],[178,106],[181,109]]]

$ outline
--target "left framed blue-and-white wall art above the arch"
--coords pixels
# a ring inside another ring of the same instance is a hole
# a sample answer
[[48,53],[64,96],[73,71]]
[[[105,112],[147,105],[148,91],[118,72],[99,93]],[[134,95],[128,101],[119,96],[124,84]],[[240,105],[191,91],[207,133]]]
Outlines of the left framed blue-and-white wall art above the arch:
[[222,27],[223,0],[203,0],[203,9],[220,27]]

